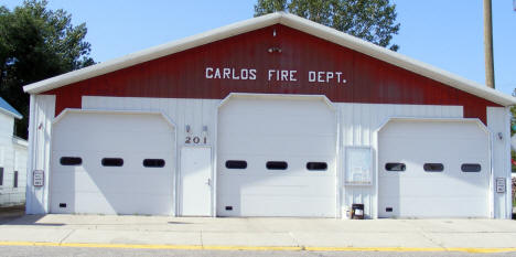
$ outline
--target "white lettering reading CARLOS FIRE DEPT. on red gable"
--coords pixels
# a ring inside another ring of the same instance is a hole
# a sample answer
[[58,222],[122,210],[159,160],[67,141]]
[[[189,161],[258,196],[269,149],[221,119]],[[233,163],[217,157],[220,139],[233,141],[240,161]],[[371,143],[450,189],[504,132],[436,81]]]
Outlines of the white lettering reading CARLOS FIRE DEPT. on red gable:
[[261,74],[269,82],[299,82],[301,77],[311,83],[345,84],[347,82],[342,72],[335,71],[308,71],[305,76],[301,76],[295,69],[267,69],[264,73],[256,68],[206,67],[204,69],[207,79],[256,81]]

